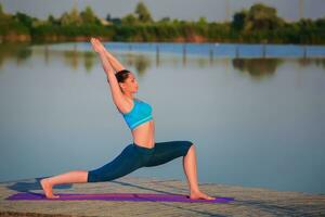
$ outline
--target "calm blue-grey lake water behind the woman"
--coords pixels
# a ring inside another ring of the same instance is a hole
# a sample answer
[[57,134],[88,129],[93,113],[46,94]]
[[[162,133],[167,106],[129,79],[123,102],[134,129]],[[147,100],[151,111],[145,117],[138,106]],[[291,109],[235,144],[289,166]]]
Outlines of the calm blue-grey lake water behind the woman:
[[[156,141],[196,144],[200,183],[325,193],[324,58],[292,46],[268,47],[282,56],[272,59],[235,59],[230,44],[156,46],[107,48],[153,106]],[[242,44],[239,56],[259,49]],[[93,169],[131,143],[105,78],[89,43],[2,46],[0,181]],[[181,158],[128,176],[185,180]]]

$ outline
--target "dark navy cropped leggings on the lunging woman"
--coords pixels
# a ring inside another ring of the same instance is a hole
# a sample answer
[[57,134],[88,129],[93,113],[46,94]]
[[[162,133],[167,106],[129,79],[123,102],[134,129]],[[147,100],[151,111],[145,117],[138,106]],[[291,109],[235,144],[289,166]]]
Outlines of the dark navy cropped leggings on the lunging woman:
[[110,181],[138,168],[158,166],[180,156],[185,156],[191,141],[156,142],[152,149],[135,143],[127,145],[121,153],[104,166],[88,171],[88,182]]

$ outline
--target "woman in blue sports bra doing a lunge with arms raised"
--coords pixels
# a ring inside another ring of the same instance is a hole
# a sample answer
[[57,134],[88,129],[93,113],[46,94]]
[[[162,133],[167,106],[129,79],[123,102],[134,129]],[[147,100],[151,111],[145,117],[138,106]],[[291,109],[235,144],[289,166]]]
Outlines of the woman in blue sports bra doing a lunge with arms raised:
[[[140,167],[165,164],[183,156],[183,169],[190,187],[190,199],[213,200],[198,189],[195,148],[191,141],[155,142],[155,126],[152,106],[134,98],[138,81],[96,38],[91,38],[92,48],[100,55],[107,75],[113,101],[131,129],[133,143],[106,165],[93,170],[73,170],[40,181],[48,199],[57,199],[52,188],[60,183],[83,183],[109,181],[122,177]],[[115,74],[115,72],[117,72]]]

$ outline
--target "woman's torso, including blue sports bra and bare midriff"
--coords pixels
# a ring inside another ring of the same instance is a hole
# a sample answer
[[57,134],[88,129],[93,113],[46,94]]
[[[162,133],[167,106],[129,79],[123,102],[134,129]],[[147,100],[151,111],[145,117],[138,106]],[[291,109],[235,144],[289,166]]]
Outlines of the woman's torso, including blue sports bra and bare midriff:
[[[129,125],[129,127],[131,125],[130,128],[132,128],[131,132],[133,137],[133,142],[138,145],[151,149],[155,145],[155,123],[154,123],[154,118],[152,117],[152,107],[150,104],[139,99],[133,99],[132,101],[130,101],[130,104],[131,104],[131,111],[122,115],[129,116],[129,120],[128,120],[129,123],[127,122],[127,124]],[[143,117],[140,117],[141,115],[143,115]],[[132,127],[133,124],[139,122],[139,119],[136,118],[140,119],[148,118],[150,120],[146,120],[140,125],[138,124],[138,126]]]

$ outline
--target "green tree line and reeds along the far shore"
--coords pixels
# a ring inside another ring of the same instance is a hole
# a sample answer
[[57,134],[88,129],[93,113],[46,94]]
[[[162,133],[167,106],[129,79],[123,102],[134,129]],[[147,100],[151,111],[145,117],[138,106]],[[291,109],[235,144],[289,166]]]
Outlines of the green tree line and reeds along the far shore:
[[84,41],[95,36],[109,41],[155,42],[240,42],[240,43],[325,43],[325,17],[286,22],[276,9],[256,3],[235,12],[231,22],[182,21],[162,17],[154,21],[139,2],[123,17],[108,13],[100,18],[91,7],[73,8],[60,17],[47,20],[25,13],[5,13],[0,4],[0,41]]

